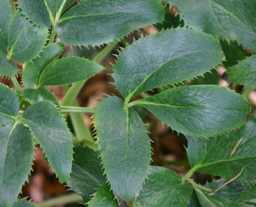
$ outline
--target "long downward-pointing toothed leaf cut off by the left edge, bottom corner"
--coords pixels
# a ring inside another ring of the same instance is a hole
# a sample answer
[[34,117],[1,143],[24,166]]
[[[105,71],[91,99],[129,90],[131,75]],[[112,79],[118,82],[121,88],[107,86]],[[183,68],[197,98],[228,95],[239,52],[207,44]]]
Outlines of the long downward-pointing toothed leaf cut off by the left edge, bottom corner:
[[1,126],[0,135],[0,206],[10,207],[32,169],[34,147],[30,132],[18,122]]

